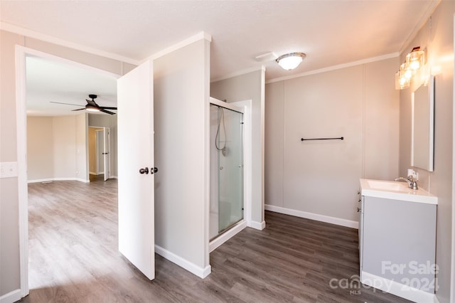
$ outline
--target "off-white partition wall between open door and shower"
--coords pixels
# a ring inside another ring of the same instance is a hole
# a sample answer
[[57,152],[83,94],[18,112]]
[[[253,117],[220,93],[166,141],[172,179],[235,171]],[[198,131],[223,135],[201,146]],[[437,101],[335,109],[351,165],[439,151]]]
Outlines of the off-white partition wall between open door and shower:
[[156,252],[200,277],[210,273],[210,42],[154,60]]

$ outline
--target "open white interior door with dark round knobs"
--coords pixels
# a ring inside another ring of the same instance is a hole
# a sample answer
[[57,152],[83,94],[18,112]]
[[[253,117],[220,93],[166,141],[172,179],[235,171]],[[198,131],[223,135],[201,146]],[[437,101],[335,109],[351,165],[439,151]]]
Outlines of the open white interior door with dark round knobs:
[[119,251],[155,277],[153,65],[117,80]]

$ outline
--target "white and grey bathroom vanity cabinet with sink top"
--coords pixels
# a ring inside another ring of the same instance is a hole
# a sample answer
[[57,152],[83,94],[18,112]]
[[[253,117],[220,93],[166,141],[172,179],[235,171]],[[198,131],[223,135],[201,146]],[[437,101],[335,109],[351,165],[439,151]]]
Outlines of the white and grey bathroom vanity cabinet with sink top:
[[414,302],[433,302],[437,197],[380,182],[360,179],[360,281]]

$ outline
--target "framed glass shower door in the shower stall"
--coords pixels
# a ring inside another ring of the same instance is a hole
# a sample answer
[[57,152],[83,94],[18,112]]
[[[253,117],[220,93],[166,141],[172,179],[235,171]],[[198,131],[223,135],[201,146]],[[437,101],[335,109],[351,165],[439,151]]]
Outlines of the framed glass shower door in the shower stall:
[[243,218],[243,114],[218,107],[218,233]]

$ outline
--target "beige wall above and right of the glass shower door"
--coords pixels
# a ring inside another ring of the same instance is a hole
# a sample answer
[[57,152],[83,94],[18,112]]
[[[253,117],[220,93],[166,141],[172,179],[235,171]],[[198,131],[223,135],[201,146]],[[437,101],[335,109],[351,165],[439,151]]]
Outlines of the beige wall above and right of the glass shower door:
[[256,70],[210,83],[210,96],[228,103],[252,100],[252,227],[264,228],[264,73]]

